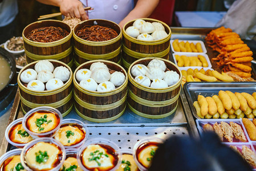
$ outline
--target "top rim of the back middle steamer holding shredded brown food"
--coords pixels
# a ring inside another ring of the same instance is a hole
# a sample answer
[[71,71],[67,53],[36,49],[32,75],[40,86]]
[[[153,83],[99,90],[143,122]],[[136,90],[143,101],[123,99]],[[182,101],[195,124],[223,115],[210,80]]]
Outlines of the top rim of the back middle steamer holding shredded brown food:
[[[96,22],[97,21],[105,21],[105,22],[112,23],[113,25],[117,25],[117,23],[112,22],[112,21],[108,21],[106,19],[88,19],[87,21],[83,21],[83,22],[78,23],[78,25],[83,25],[83,23],[88,22],[88,21],[96,21]],[[76,25],[75,27],[77,27],[78,25]],[[73,38],[77,42],[82,43],[82,44],[87,44],[88,46],[106,46],[106,45],[109,45],[109,44],[113,44],[113,43],[117,42],[119,39],[121,39],[121,37],[122,37],[122,30],[121,30],[121,27],[119,25],[117,25],[117,26],[120,28],[120,34],[117,35],[115,38],[113,38],[111,40],[104,41],[104,42],[92,42],[92,41],[81,39],[81,38],[79,38],[79,36],[77,36],[75,34],[75,31],[74,31],[75,28],[72,31]]]

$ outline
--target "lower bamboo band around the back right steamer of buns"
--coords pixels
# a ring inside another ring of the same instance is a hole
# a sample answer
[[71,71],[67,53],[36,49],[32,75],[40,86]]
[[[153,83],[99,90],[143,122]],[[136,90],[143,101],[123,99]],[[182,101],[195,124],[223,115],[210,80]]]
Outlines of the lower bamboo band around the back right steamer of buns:
[[136,51],[132,51],[123,44],[123,51],[128,54],[129,56],[132,56],[133,58],[141,59],[141,58],[147,58],[147,57],[155,57],[155,58],[162,58],[163,56],[169,54],[170,46],[166,48],[166,50],[155,53],[155,54],[144,54]]

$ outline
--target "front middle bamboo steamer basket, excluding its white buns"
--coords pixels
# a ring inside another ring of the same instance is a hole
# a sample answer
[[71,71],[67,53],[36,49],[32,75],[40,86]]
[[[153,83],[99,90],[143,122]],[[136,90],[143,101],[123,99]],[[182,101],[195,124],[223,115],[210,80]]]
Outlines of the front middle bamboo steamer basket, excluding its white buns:
[[[82,88],[75,78],[76,72],[82,68],[89,69],[92,63],[103,62],[111,70],[123,72],[124,83],[107,92],[90,91]],[[83,119],[104,123],[112,121],[123,115],[127,98],[127,72],[119,64],[109,60],[92,60],[81,64],[74,72],[74,99],[75,110]]]

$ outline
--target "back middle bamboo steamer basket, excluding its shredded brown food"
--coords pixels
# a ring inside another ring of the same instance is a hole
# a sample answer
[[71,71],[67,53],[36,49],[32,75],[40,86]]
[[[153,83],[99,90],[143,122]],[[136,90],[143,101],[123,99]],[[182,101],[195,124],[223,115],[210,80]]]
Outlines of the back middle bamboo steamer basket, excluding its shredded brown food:
[[[79,38],[76,32],[83,28],[83,26],[93,26],[97,23],[99,26],[109,26],[117,32],[116,38],[103,42],[92,42]],[[73,31],[74,37],[74,56],[75,65],[78,67],[89,60],[103,59],[121,64],[121,27],[116,23],[104,19],[89,19],[80,22],[75,26]]]

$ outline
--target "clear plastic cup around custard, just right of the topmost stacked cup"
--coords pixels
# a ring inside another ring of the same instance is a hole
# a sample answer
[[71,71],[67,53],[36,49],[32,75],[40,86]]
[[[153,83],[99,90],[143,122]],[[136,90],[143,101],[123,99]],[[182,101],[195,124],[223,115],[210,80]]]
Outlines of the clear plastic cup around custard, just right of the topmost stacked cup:
[[[79,148],[80,146],[82,146],[84,144],[84,142],[87,140],[88,137],[88,128],[86,126],[86,124],[84,124],[82,121],[77,120],[77,119],[63,119],[62,121],[62,125],[68,125],[68,124],[75,124],[75,125],[80,125],[83,129],[83,131],[86,133],[84,139],[82,141],[80,141],[78,144],[74,144],[74,145],[64,145],[65,148]],[[62,125],[60,126],[60,128],[62,128]],[[55,137],[54,137],[55,139]],[[56,140],[56,139],[55,139]],[[60,142],[61,143],[61,142]]]

